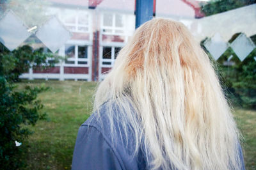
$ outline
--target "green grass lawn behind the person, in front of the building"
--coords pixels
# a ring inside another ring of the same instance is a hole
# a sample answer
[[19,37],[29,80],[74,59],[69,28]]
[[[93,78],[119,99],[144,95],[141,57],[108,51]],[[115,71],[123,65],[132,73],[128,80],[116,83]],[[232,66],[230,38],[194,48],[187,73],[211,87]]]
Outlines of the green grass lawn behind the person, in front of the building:
[[[48,119],[29,127],[34,134],[22,147],[28,147],[26,169],[70,169],[79,126],[92,111],[95,82],[30,81],[31,86],[45,83],[51,87],[40,93]],[[20,83],[22,86],[28,81]],[[235,109],[239,128],[244,136],[246,169],[256,169],[256,111]]]

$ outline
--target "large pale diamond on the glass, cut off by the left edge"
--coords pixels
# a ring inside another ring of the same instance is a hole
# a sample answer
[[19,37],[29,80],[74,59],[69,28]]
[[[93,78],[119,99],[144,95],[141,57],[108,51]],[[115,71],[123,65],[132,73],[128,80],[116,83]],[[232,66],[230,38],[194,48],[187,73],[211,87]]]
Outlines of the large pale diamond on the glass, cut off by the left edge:
[[31,33],[12,11],[7,12],[0,20],[0,42],[10,51],[16,49]]

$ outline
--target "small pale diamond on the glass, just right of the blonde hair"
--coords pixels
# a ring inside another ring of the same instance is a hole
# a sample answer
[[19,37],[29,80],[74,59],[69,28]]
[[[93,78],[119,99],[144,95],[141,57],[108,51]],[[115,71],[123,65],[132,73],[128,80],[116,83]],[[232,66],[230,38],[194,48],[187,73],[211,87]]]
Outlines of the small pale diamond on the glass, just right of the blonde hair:
[[220,58],[220,56],[228,49],[228,43],[221,38],[220,33],[216,33],[212,38],[206,40],[204,46],[215,60]]

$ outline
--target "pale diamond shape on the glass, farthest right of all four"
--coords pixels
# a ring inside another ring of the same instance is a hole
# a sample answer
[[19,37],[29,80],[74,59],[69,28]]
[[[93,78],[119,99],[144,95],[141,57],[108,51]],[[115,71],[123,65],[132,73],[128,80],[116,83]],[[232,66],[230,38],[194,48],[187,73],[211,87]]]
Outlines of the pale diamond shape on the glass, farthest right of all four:
[[234,50],[237,57],[243,61],[255,48],[254,43],[244,33],[237,36],[236,40],[231,43],[230,47]]

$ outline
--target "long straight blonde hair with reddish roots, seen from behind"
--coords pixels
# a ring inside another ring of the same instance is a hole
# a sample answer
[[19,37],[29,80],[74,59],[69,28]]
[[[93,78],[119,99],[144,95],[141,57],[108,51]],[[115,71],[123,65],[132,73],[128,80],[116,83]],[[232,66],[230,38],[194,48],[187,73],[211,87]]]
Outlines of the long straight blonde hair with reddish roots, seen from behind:
[[[136,29],[95,95],[108,105],[134,153],[147,148],[152,169],[240,169],[236,123],[211,62],[186,26],[152,19]],[[113,130],[115,132],[115,130]],[[118,132],[118,131],[117,131]],[[113,133],[115,135],[115,133]]]

